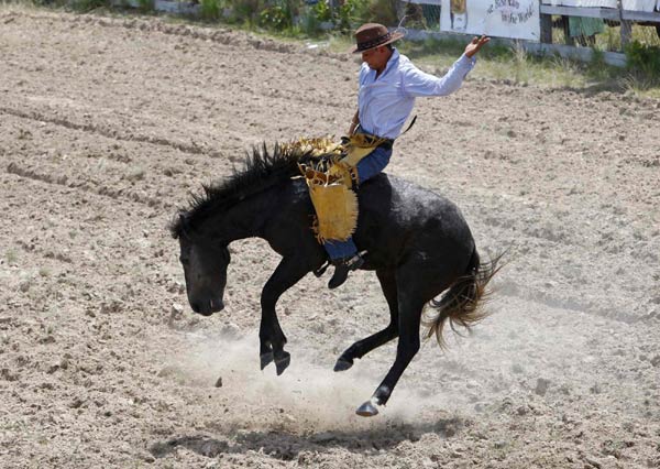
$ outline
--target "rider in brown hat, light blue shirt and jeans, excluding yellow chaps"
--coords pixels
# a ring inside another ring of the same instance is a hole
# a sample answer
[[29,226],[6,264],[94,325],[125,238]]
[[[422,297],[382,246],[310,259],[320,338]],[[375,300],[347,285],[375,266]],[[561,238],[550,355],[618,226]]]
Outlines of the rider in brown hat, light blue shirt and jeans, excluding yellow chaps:
[[[358,110],[351,120],[349,135],[360,132],[385,139],[384,143],[355,166],[358,184],[374,177],[387,166],[394,140],[399,137],[410,116],[415,98],[447,96],[458,90],[474,67],[474,55],[490,41],[486,36],[474,37],[449,72],[438,78],[421,72],[392,46],[393,42],[403,36],[404,33],[389,32],[377,23],[364,24],[355,32],[356,45],[352,53],[362,54],[362,68]],[[334,265],[334,274],[328,287],[337,288],[346,281],[349,272],[362,266],[364,259],[352,238],[346,241],[328,241],[323,246]]]

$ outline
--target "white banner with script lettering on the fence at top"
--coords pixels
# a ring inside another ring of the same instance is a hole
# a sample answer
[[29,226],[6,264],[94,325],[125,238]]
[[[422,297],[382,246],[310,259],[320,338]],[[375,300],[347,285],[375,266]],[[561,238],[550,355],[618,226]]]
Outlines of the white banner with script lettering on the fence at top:
[[539,41],[539,0],[442,0],[440,30]]

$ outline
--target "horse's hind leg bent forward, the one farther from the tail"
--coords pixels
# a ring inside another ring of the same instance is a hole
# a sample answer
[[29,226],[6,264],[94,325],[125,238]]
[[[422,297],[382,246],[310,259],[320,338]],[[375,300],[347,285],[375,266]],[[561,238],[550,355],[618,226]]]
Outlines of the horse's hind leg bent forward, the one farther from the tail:
[[385,329],[359,340],[349,347],[337,360],[334,371],[348,370],[353,366],[354,359],[364,357],[373,349],[381,347],[398,336],[398,303],[395,272],[376,271],[376,275],[381,282],[381,288],[383,288],[387,306],[389,306],[389,325]]

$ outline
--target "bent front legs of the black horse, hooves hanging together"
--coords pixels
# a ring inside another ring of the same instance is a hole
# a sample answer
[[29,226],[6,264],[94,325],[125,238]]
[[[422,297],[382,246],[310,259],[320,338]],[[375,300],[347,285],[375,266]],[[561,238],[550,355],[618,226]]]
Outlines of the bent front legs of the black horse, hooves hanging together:
[[286,337],[279,326],[275,305],[284,292],[298,283],[309,272],[309,265],[295,258],[284,258],[264,285],[261,297],[262,318],[258,329],[260,360],[263,370],[275,361],[277,374],[289,366],[290,355],[284,350]]

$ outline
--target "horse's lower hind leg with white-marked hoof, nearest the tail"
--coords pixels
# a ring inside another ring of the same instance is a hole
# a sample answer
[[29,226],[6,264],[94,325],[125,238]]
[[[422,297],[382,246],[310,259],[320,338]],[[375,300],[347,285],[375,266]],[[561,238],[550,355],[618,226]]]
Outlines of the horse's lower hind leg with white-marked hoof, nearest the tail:
[[[399,281],[400,284],[400,281]],[[376,389],[372,399],[358,408],[358,415],[373,416],[378,413],[377,405],[385,405],[392,395],[394,386],[419,350],[419,324],[421,310],[426,301],[421,295],[413,295],[398,290],[398,329],[399,339],[396,348],[396,359],[387,375]]]

